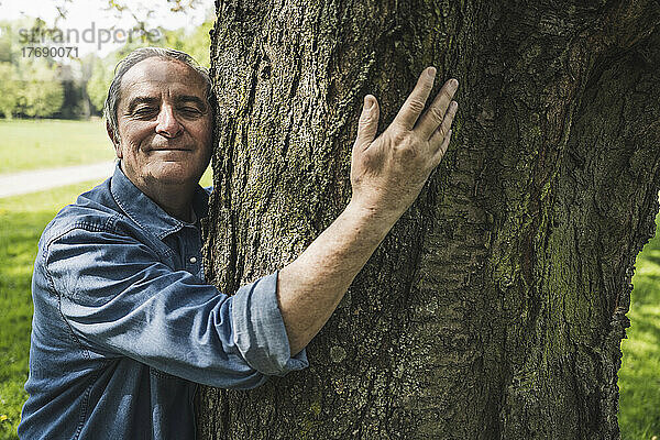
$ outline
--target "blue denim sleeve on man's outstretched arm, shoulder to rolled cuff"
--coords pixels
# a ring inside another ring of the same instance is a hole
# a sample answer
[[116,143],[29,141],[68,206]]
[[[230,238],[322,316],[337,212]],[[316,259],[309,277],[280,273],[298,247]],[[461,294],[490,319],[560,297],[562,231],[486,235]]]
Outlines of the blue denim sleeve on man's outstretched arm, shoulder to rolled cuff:
[[102,355],[243,389],[308,366],[305,350],[289,353],[277,272],[229,297],[131,237],[85,228],[53,241],[45,265],[64,319]]

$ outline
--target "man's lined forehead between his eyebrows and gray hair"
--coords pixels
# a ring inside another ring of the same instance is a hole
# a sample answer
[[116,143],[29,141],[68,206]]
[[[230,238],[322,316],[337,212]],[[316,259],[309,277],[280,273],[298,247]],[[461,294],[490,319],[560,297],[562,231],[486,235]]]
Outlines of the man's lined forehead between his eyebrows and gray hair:
[[138,95],[195,95],[205,99],[207,85],[198,72],[179,61],[151,57],[127,70],[119,89],[121,106]]

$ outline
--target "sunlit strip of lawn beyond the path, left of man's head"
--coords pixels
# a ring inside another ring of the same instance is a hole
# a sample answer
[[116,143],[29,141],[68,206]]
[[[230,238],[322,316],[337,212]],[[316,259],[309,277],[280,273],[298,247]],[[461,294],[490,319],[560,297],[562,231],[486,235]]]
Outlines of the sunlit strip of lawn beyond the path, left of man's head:
[[112,161],[102,120],[0,120],[0,174]]

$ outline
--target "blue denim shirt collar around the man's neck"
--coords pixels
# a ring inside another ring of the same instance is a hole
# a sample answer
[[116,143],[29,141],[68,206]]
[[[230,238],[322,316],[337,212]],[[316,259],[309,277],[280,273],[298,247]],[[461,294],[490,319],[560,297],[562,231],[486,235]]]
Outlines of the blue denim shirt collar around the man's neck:
[[[114,201],[142,229],[163,239],[179,231],[185,226],[183,221],[175,219],[163,210],[155,201],[142,193],[121,170],[119,162],[114,167],[114,174],[110,179],[110,193]],[[193,196],[193,210],[197,218],[204,218],[208,213],[209,195],[199,185]]]

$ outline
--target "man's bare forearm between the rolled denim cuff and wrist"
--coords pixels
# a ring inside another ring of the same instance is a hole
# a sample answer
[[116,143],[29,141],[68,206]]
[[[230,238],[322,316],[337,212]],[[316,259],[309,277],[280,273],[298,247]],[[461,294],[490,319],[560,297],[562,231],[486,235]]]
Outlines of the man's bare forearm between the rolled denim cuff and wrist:
[[279,271],[277,300],[292,354],[330,318],[353,278],[398,218],[351,202],[294,262]]

